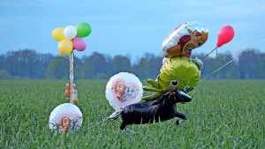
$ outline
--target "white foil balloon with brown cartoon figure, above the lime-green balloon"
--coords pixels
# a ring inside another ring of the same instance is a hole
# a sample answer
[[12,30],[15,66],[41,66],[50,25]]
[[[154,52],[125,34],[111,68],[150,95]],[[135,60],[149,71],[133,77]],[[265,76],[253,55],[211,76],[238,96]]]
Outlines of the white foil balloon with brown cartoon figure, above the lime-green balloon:
[[201,47],[208,40],[208,28],[196,21],[184,22],[163,41],[163,56],[190,57],[194,48]]

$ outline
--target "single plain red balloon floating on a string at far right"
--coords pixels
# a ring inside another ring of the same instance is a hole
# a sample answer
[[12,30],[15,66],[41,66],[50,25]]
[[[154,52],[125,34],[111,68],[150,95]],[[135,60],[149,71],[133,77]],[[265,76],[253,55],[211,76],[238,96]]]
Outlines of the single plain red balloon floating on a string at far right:
[[230,42],[235,35],[235,31],[232,26],[223,26],[219,33],[216,46],[219,48],[223,46],[223,44]]

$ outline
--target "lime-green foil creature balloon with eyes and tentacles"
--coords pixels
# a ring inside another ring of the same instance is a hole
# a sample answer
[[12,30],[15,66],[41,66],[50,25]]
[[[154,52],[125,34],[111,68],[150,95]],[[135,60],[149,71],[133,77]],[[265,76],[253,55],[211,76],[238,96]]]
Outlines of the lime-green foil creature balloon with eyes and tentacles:
[[149,78],[150,86],[143,86],[145,91],[155,92],[153,95],[143,97],[143,100],[154,100],[176,88],[188,93],[198,85],[200,78],[199,66],[192,59],[186,56],[172,57],[169,62],[163,64],[156,80]]

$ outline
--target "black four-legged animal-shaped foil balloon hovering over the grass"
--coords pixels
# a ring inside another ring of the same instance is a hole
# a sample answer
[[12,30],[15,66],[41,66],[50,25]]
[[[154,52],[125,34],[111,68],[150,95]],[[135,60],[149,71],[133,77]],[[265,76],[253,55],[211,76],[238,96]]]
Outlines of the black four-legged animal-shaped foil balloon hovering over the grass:
[[[120,129],[124,130],[128,124],[143,124],[143,123],[159,123],[167,121],[174,117],[179,117],[182,121],[186,120],[186,115],[177,112],[176,103],[184,103],[192,101],[192,97],[182,91],[175,90],[173,92],[164,93],[155,101],[144,101],[126,106],[122,111],[118,112],[121,115],[123,122]],[[115,119],[117,119],[117,117]],[[114,120],[108,118],[109,120]],[[176,124],[180,124],[177,121]]]

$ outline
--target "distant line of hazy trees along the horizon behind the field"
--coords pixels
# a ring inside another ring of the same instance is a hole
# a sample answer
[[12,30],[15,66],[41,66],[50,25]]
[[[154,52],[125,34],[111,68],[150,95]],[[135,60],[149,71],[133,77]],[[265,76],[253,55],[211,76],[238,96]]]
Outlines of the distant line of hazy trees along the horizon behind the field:
[[[192,58],[205,56],[193,55]],[[163,56],[146,53],[135,62],[129,56],[74,57],[74,78],[110,78],[120,71],[131,72],[141,79],[156,78]],[[233,58],[231,54],[218,54],[203,59],[201,78],[212,79],[261,79],[265,78],[265,54],[257,49],[246,49]],[[227,63],[227,65],[225,65]],[[225,65],[222,69],[223,65]],[[218,70],[218,71],[216,71]],[[215,72],[216,71],[216,72]],[[0,79],[69,79],[69,57],[36,53],[31,49],[7,52],[0,55]]]

